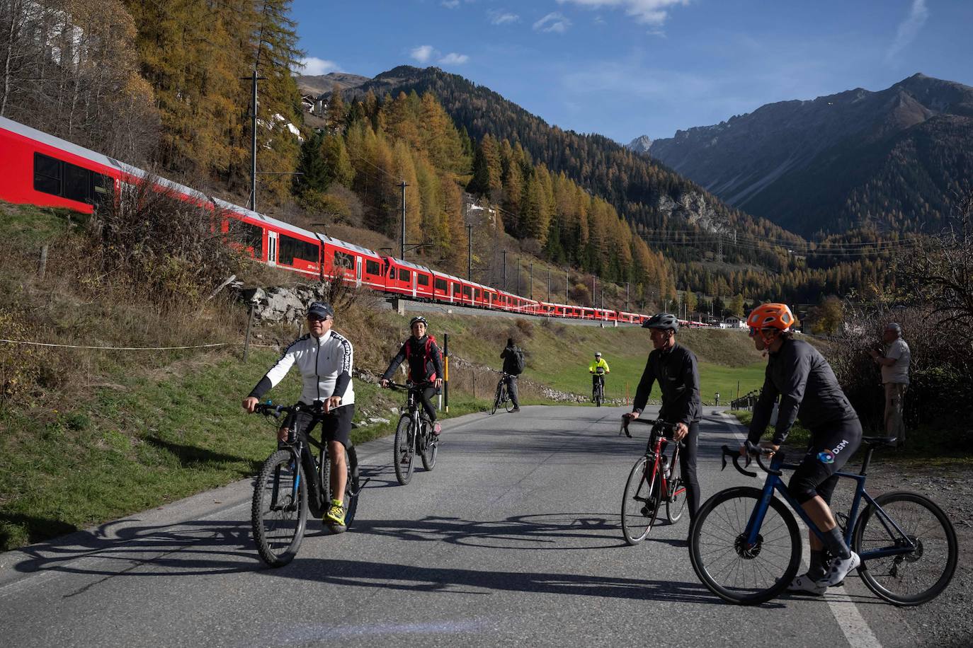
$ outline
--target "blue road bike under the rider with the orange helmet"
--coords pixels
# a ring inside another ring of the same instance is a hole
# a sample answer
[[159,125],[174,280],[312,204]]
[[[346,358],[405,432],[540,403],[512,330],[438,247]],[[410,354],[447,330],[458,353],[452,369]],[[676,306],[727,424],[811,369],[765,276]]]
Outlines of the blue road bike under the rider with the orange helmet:
[[[878,597],[896,605],[932,600],[946,589],[955,572],[958,550],[953,524],[922,495],[906,491],[869,495],[865,478],[872,454],[881,446],[894,446],[895,438],[862,437],[862,442],[868,448],[861,471],[835,473],[856,481],[847,516],[836,518],[848,547],[861,557],[858,575]],[[728,457],[742,474],[757,476],[740,467],[738,450],[723,446],[723,468]],[[741,486],[713,495],[690,527],[693,569],[713,594],[732,603],[770,600],[797,575],[801,533],[785,502],[822,537],[781,479],[781,468],[793,469],[797,464],[784,463],[781,452],[773,455],[770,466],[760,453],[756,457],[767,473],[764,488]],[[859,516],[863,498],[866,506]]]

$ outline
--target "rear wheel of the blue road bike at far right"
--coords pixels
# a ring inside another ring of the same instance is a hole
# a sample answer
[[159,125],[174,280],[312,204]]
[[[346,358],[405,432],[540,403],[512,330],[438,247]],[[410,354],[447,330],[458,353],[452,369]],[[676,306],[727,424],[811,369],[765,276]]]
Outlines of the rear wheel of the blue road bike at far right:
[[[950,519],[932,500],[915,493],[885,493],[875,502],[881,510],[870,504],[851,538],[854,552],[865,554],[858,568],[861,579],[896,605],[938,597],[953,579],[959,553]],[[907,554],[868,557],[869,552],[910,546],[915,548]]]

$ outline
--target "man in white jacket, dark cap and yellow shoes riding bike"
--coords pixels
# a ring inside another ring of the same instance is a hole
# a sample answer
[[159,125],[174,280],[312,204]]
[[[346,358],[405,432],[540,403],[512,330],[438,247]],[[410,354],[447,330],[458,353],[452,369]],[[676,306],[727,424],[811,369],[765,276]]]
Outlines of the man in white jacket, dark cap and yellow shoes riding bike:
[[[351,386],[353,350],[351,343],[331,329],[335,311],[330,304],[315,301],[307,307],[307,335],[299,337],[284,350],[280,359],[260,379],[257,386],[243,399],[243,409],[253,412],[260,398],[276,386],[291,367],[297,365],[304,380],[301,402],[318,406],[319,415],[301,412],[288,417],[277,432],[277,438],[286,441],[293,429],[310,432],[319,421],[321,440],[328,443],[331,458],[331,506],[324,515],[324,522],[338,529],[344,527],[344,487],[347,468],[344,448],[349,443],[351,420],[355,411],[355,392]],[[330,415],[330,416],[324,416]]]

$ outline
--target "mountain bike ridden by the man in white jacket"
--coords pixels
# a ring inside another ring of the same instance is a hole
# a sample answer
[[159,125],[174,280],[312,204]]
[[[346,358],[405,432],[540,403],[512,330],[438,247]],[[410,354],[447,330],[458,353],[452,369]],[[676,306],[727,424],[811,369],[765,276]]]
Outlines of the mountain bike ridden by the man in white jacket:
[[[309,412],[314,418],[306,429],[287,441],[279,441],[277,450],[264,461],[254,484],[251,522],[253,538],[261,559],[272,567],[290,563],[304,540],[308,511],[321,517],[331,501],[331,458],[328,444],[311,438],[312,429],[324,414],[319,406],[297,403],[291,406],[258,404],[257,414],[280,418],[281,414]],[[318,449],[315,457],[311,447]],[[358,495],[365,484],[359,484],[358,455],[353,446],[344,449],[347,481],[344,487],[344,528],[351,526],[358,509]],[[339,529],[332,529],[339,530]],[[343,529],[341,529],[343,530]]]

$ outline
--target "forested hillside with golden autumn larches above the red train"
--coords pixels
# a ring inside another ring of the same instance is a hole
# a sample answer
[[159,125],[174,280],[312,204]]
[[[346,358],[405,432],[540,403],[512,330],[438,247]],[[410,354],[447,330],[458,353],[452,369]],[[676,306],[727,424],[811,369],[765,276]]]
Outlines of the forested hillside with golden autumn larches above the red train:
[[[496,214],[480,226],[631,285],[639,308],[673,308],[676,297],[808,302],[889,281],[874,247],[849,253],[843,235],[822,255],[824,244],[728,207],[645,155],[550,126],[436,68],[398,67],[334,92],[314,119],[324,126],[310,128],[289,11],[289,0],[3,3],[0,115],[246,204],[256,70],[258,204],[275,218],[398,238],[405,182],[414,258],[463,273],[465,190]],[[877,233],[854,236],[868,244]],[[496,281],[499,238],[478,238],[494,253],[481,278]]]

